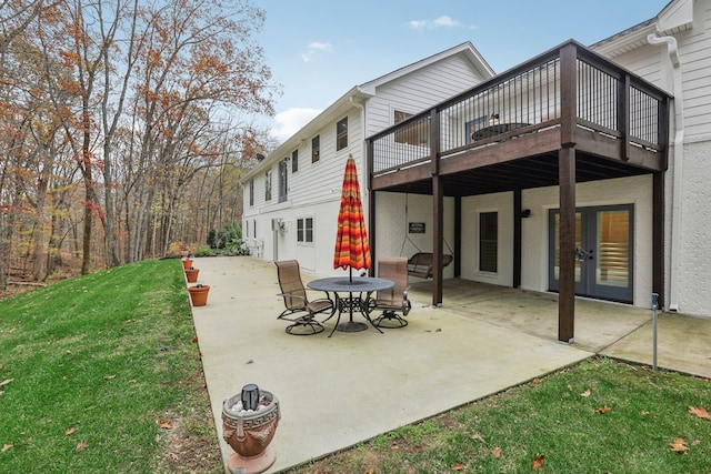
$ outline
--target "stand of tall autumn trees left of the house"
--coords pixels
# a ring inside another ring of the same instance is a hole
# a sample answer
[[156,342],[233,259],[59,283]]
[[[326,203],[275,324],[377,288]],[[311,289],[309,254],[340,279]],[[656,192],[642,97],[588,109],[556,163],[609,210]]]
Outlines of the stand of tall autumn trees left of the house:
[[41,279],[50,255],[80,241],[71,251],[87,273],[92,262],[164,253],[203,198],[217,205],[206,226],[239,219],[239,170],[266,138],[247,118],[273,113],[277,92],[253,40],[261,9],[247,0],[0,6],[3,254],[27,232],[26,254],[47,258]]

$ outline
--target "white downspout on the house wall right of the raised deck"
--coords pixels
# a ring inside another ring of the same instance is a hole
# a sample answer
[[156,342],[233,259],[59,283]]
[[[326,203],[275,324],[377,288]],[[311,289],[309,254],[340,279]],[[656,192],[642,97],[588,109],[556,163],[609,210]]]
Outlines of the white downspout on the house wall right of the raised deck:
[[650,44],[667,44],[672,64],[672,94],[674,95],[674,151],[672,167],[672,205],[671,205],[671,255],[669,263],[669,305],[670,311],[679,311],[679,252],[681,248],[681,185],[684,158],[684,100],[681,82],[681,61],[674,37],[649,34]]

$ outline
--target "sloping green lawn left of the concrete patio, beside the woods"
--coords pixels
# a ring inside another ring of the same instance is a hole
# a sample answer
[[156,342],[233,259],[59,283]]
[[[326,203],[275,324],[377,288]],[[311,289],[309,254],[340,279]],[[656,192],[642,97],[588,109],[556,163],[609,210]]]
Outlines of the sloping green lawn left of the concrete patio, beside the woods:
[[179,260],[0,301],[0,472],[223,472],[194,335]]

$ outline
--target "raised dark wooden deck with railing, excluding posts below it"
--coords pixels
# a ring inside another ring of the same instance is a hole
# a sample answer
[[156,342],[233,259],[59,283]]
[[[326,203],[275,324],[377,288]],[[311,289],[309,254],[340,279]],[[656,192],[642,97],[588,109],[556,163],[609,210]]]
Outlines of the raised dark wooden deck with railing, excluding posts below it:
[[569,41],[368,139],[370,189],[464,196],[667,169],[671,98]]

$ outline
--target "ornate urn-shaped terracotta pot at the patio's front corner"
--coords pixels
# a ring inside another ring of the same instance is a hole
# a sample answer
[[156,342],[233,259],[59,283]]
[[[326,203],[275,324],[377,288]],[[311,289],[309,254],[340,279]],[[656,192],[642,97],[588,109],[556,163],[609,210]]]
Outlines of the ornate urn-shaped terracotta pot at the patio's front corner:
[[[242,411],[241,394],[222,403],[222,437],[234,450],[228,462],[230,472],[261,473],[276,461],[269,447],[281,414],[271,392],[260,391],[259,410]],[[238,471],[240,470],[240,471]]]

